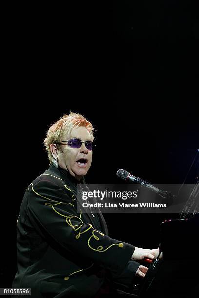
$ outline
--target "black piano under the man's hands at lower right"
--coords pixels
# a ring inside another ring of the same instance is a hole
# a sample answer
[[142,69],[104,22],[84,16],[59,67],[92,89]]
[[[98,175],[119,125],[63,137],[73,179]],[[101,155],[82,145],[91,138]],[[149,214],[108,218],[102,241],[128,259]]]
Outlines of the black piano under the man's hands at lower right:
[[160,224],[159,257],[152,261],[139,298],[199,298],[199,175],[177,219]]

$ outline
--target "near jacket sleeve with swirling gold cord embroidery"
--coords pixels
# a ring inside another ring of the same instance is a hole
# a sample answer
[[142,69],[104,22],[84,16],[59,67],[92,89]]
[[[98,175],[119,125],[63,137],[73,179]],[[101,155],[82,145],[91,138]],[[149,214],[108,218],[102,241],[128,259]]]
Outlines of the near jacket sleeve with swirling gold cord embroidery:
[[27,215],[46,239],[67,253],[88,258],[111,270],[122,272],[135,249],[83,223],[77,215],[75,195],[54,181],[42,179],[29,190]]

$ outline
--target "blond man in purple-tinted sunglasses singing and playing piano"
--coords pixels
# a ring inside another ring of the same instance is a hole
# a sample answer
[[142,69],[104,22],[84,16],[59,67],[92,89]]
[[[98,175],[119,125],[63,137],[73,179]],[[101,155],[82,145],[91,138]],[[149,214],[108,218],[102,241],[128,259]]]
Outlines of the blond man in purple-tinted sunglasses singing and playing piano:
[[158,253],[110,238],[101,212],[77,213],[77,184],[84,189],[93,130],[73,112],[55,122],[44,140],[50,167],[25,191],[13,287],[31,288],[32,298],[116,297],[117,283],[128,287],[145,276],[147,267],[137,261]]

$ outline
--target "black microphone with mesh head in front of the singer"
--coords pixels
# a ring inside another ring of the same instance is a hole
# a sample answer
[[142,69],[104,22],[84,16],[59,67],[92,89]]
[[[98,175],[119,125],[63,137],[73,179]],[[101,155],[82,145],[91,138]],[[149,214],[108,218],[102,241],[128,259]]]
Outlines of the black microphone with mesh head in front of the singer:
[[125,171],[124,169],[119,169],[116,173],[116,175],[127,181],[130,183],[139,183],[141,184],[141,186],[145,186],[146,188],[155,191],[157,194],[159,194],[162,198],[166,198],[166,199],[173,199],[173,195],[168,192],[168,191],[163,191],[153,185],[151,185],[149,182],[144,181],[143,179],[139,178],[139,177],[135,177],[133,175],[131,175],[129,172]]

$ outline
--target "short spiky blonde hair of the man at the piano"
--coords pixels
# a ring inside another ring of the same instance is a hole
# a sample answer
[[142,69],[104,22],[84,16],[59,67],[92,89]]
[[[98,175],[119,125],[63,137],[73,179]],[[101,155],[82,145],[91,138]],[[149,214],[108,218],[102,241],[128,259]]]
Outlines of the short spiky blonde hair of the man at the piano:
[[[51,125],[47,131],[47,135],[44,139],[44,146],[48,153],[48,159],[50,163],[52,162],[53,158],[50,150],[50,144],[58,143],[61,140],[64,140],[64,138],[70,135],[72,129],[76,126],[84,126],[87,128],[91,137],[94,139],[93,131],[95,129],[93,128],[93,125],[82,115],[70,111],[69,115],[63,115],[63,117]],[[60,149],[59,144],[57,147]]]

